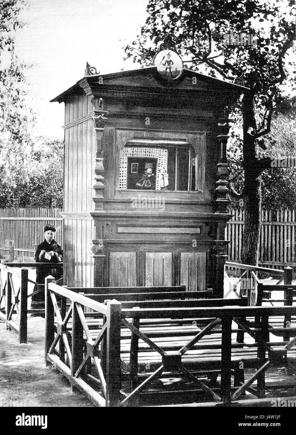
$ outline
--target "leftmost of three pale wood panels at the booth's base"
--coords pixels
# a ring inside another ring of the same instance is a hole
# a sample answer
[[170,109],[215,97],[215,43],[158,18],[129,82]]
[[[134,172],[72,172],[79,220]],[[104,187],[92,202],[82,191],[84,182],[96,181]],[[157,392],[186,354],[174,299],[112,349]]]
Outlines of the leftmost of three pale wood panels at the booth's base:
[[135,287],[136,253],[110,252],[110,287]]

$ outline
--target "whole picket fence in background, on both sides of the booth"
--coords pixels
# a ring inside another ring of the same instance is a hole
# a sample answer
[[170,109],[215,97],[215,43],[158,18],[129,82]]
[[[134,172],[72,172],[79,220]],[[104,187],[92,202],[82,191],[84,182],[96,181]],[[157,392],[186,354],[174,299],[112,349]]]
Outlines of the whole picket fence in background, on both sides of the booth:
[[[53,224],[56,240],[63,244],[61,208],[4,208],[0,209],[0,255],[9,254],[9,241],[14,241],[16,256],[33,257],[34,245],[43,241],[43,227]],[[228,259],[241,261],[243,219],[242,210],[230,210],[232,218],[225,228],[229,240]],[[263,210],[261,214],[259,264],[266,267],[296,267],[295,210]],[[272,220],[273,217],[273,220]]]

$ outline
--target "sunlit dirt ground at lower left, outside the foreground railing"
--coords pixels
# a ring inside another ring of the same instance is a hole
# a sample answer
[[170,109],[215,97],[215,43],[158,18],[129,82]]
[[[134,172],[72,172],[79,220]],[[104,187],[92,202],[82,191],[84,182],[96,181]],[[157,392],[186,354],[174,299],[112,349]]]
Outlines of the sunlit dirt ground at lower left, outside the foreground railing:
[[91,407],[57,370],[44,364],[44,319],[28,319],[28,343],[18,344],[13,331],[0,322],[0,407]]

